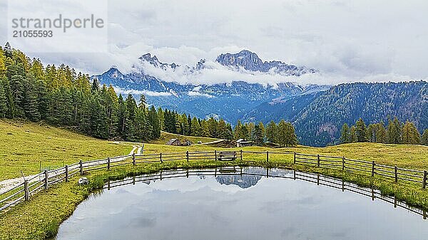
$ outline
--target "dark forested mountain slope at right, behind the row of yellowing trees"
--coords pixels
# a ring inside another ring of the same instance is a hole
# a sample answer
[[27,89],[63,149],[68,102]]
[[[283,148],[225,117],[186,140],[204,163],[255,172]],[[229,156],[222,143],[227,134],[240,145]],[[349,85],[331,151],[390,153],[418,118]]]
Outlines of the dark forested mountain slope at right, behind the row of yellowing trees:
[[428,128],[428,83],[337,85],[307,105],[294,123],[302,144],[325,146],[337,142],[345,122],[387,122],[387,116],[412,121],[419,131]]

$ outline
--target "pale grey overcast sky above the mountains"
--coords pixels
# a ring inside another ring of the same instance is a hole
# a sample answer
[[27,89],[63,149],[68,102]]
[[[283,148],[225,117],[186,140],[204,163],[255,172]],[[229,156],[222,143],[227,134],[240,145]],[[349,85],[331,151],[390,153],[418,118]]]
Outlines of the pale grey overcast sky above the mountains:
[[93,74],[130,71],[148,52],[194,66],[245,48],[263,61],[319,69],[328,83],[419,80],[428,78],[427,13],[424,0],[111,0],[108,53],[29,55]]

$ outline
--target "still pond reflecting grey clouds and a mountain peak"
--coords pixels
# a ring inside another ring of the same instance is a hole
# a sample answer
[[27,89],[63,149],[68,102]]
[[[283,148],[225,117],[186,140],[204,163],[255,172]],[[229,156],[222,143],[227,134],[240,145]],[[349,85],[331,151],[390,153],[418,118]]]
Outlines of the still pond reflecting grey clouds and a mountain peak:
[[109,182],[56,239],[427,239],[425,216],[319,174],[190,169]]

